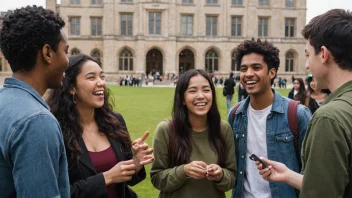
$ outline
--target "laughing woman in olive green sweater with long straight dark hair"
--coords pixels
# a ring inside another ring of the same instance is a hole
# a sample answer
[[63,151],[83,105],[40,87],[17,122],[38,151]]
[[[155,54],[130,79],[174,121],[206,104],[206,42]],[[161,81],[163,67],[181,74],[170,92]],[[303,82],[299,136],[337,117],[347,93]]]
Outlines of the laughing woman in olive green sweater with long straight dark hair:
[[150,175],[159,197],[225,197],[234,186],[233,133],[220,119],[215,87],[205,71],[180,76],[172,119],[157,126],[153,148]]

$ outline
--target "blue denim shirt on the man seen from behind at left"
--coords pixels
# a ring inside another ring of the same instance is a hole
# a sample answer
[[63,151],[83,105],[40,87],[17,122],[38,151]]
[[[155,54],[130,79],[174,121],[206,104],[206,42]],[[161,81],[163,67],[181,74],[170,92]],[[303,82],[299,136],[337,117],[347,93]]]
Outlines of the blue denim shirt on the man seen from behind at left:
[[39,93],[6,78],[0,126],[0,197],[69,197],[61,129]]

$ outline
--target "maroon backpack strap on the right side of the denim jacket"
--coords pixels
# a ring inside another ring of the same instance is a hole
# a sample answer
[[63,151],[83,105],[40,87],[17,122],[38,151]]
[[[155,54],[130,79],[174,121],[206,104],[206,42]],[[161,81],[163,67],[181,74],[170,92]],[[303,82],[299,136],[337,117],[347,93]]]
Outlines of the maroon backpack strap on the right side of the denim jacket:
[[301,168],[301,154],[299,152],[299,145],[298,145],[298,140],[299,140],[299,124],[298,124],[298,119],[297,119],[297,107],[298,107],[298,102],[295,100],[291,100],[290,103],[288,104],[288,111],[287,111],[287,120],[288,120],[288,125],[290,127],[290,131],[293,135],[293,141],[295,144],[295,150],[296,150],[296,155],[297,159],[299,162],[299,166]]

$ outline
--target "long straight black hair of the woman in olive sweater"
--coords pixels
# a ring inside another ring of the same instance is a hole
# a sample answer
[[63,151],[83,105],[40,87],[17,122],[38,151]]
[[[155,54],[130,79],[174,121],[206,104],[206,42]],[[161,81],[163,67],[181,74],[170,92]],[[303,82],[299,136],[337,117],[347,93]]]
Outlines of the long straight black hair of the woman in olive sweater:
[[172,146],[173,149],[170,153],[171,166],[190,162],[192,151],[190,134],[192,127],[188,118],[187,106],[184,105],[184,94],[188,88],[190,79],[197,75],[203,76],[209,82],[211,88],[213,102],[207,114],[209,143],[212,149],[218,154],[218,164],[224,166],[228,157],[228,151],[226,149],[225,138],[221,133],[221,118],[216,103],[215,87],[207,73],[199,69],[192,69],[183,73],[176,85],[172,110],[174,146]]

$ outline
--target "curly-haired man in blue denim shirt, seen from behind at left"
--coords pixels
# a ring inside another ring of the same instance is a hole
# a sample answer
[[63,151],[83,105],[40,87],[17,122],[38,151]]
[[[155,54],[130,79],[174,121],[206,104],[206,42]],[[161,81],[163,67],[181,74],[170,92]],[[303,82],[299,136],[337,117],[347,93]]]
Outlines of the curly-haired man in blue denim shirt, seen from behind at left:
[[1,197],[69,197],[59,123],[42,99],[68,66],[65,22],[27,6],[5,16],[0,46],[13,76],[0,89]]

